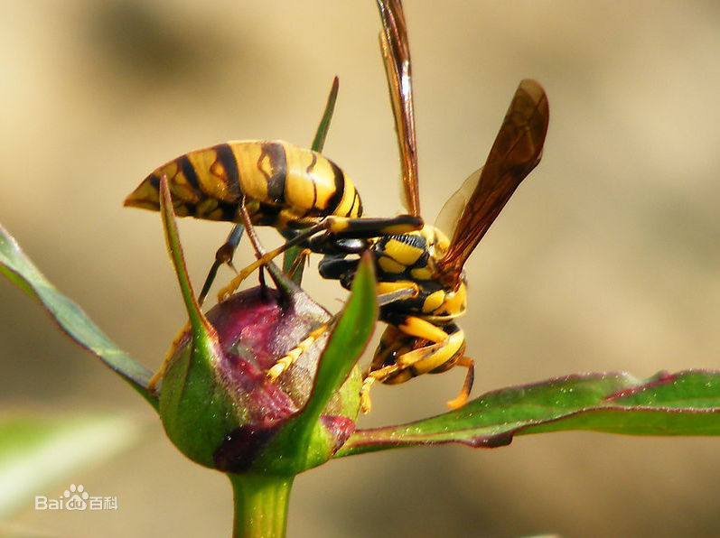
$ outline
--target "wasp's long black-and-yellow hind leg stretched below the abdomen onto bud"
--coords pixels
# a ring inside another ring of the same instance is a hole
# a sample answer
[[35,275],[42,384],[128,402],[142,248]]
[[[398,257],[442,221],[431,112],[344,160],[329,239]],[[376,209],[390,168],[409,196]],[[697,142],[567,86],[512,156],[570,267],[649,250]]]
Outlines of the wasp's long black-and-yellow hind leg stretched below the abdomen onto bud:
[[[242,206],[240,206],[242,213]],[[247,225],[246,225],[247,226]],[[341,234],[341,237],[377,237],[407,233],[423,226],[423,220],[412,215],[399,215],[393,218],[346,218],[346,217],[325,217],[313,227],[296,235],[284,245],[278,246],[263,255],[257,260],[241,269],[228,286],[218,293],[218,301],[224,301],[232,292],[238,289],[242,281],[248,278],[261,265],[270,263],[276,256],[281,255],[291,246],[303,245],[311,237],[324,232],[325,240],[332,239],[333,235]],[[248,230],[249,234],[249,230]],[[322,244],[322,243],[321,243]]]

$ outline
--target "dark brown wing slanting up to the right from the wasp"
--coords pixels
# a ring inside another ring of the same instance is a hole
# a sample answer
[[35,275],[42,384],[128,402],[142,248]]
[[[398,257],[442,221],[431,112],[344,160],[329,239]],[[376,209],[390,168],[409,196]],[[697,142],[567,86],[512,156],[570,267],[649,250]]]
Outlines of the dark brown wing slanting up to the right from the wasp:
[[459,283],[463,264],[472,250],[520,181],[540,162],[548,119],[545,90],[535,80],[522,80],[478,174],[475,190],[454,227],[448,251],[438,264],[445,284]]

